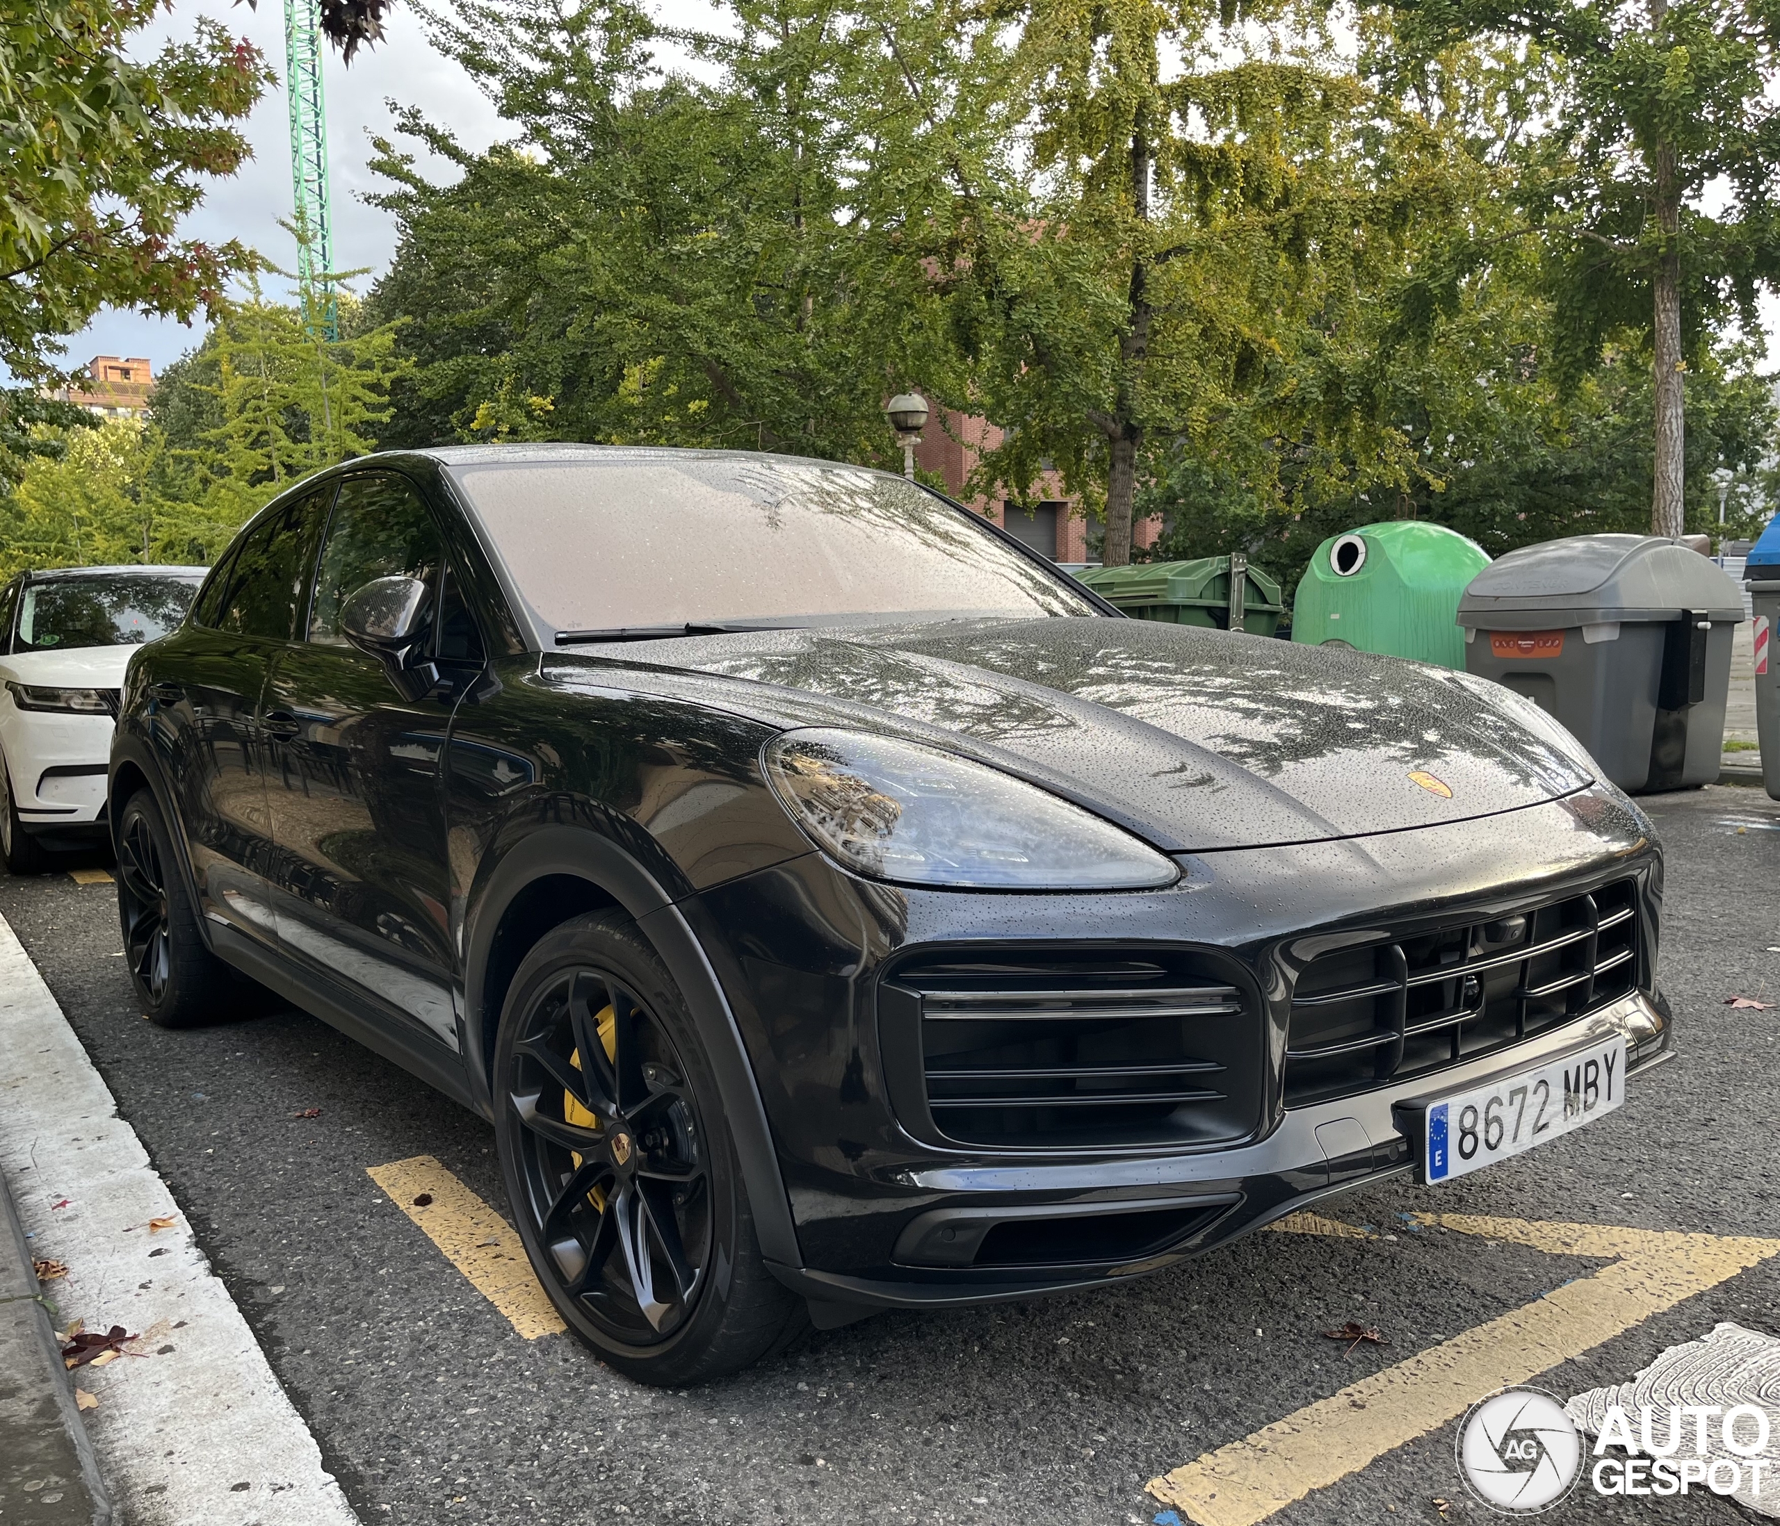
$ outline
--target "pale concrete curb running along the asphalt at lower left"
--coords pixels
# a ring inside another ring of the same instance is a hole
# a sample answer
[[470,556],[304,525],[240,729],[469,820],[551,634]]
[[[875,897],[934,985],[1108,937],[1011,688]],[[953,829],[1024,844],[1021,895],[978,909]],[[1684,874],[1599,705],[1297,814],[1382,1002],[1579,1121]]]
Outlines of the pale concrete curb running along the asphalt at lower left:
[[[62,1318],[137,1332],[80,1369],[105,1485],[132,1526],[358,1526],[320,1448],[135,1129],[0,918],[0,1174],[68,1263]],[[39,1490],[41,1496],[41,1490]],[[39,1521],[30,1508],[4,1522]],[[0,1526],[4,1526],[0,1522]]]

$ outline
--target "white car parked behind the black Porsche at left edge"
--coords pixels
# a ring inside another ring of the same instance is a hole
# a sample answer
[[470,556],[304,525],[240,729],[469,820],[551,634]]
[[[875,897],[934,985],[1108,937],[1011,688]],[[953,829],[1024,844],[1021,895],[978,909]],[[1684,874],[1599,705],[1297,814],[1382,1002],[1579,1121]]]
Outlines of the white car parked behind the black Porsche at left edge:
[[105,767],[130,653],[183,617],[205,567],[59,567],[0,592],[0,850],[41,873],[105,839]]

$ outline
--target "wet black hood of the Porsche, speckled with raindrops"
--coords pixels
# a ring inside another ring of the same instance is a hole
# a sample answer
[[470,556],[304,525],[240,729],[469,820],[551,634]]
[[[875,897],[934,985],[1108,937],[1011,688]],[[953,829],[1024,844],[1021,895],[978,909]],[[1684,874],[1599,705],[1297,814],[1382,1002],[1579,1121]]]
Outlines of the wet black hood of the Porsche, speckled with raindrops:
[[1431,827],[1591,783],[1568,733],[1485,679],[1153,621],[758,631],[573,662],[723,679],[700,697],[771,724],[949,745],[1169,852]]

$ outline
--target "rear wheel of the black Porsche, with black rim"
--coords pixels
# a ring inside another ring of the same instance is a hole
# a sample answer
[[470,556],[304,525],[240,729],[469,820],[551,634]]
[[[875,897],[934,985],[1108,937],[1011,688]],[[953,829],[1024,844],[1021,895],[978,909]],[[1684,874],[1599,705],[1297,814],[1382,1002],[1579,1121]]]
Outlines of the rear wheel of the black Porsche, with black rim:
[[117,815],[117,920],[144,1017],[189,1028],[228,1012],[233,975],[205,946],[167,823],[148,790],[137,790]]

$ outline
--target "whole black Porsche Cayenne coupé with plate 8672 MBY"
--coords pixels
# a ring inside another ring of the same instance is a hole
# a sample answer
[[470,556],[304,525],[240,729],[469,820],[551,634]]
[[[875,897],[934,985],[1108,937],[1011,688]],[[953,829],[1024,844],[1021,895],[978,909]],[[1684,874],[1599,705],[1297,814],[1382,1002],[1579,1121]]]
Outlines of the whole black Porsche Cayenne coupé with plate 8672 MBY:
[[132,660],[110,790],[148,1014],[233,968],[491,1119],[650,1382],[1436,1190],[1670,1044],[1650,823],[1527,701],[1123,619],[833,462],[313,477]]

